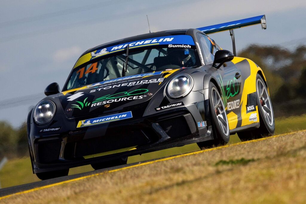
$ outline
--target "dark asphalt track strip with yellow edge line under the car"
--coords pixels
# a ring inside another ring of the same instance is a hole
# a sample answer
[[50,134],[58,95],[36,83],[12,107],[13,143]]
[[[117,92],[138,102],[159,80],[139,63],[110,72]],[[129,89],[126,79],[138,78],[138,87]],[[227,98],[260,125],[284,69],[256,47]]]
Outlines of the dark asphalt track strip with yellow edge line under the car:
[[[297,131],[297,132],[301,132],[301,131]],[[4,198],[11,197],[11,196],[14,196],[14,195],[21,195],[21,194],[30,193],[30,192],[33,192],[33,191],[39,191],[39,190],[50,188],[50,187],[53,187],[53,186],[58,186],[58,185],[62,185],[62,184],[65,184],[65,183],[75,182],[75,181],[78,181],[78,180],[83,180],[83,179],[86,179],[86,178],[89,178],[89,177],[99,176],[99,175],[106,174],[106,173],[122,171],[122,170],[125,170],[125,169],[135,168],[137,166],[149,165],[149,164],[152,164],[152,163],[155,163],[155,162],[167,161],[167,160],[171,160],[171,159],[175,159],[175,158],[179,158],[179,157],[185,157],[185,156],[189,156],[189,155],[193,155],[193,154],[200,154],[200,153],[204,153],[204,152],[208,152],[208,151],[219,150],[219,149],[223,149],[223,148],[227,148],[227,147],[233,147],[233,146],[237,146],[237,145],[241,145],[241,144],[245,144],[245,143],[259,142],[259,141],[262,141],[262,140],[265,140],[265,139],[280,137],[280,136],[289,135],[289,134],[293,134],[293,133],[296,133],[296,132],[290,132],[290,133],[281,134],[281,135],[274,135],[274,136],[271,136],[271,137],[265,137],[265,138],[261,138],[261,139],[256,139],[256,140],[251,140],[251,141],[246,141],[246,142],[240,142],[240,143],[215,147],[215,148],[211,148],[211,149],[205,149],[205,150],[190,152],[190,153],[186,153],[186,154],[179,154],[179,155],[165,157],[165,158],[159,158],[159,159],[153,159],[153,160],[149,160],[149,161],[142,161],[142,162],[137,162],[137,163],[132,163],[132,164],[120,165],[120,166],[116,166],[116,167],[100,169],[100,170],[95,170],[95,171],[90,171],[90,172],[84,172],[84,173],[74,174],[74,175],[70,175],[70,176],[63,176],[63,177],[49,179],[49,180],[37,181],[37,182],[29,183],[29,184],[7,187],[7,188],[0,189],[0,200],[4,199]]]

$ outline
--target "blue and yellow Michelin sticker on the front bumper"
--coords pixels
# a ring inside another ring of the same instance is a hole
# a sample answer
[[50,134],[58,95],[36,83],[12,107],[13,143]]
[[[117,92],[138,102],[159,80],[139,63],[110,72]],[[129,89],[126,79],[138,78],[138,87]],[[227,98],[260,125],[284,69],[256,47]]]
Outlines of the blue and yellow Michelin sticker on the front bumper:
[[77,128],[85,127],[85,126],[91,126],[91,125],[97,125],[97,124],[102,124],[102,123],[109,123],[113,121],[120,121],[128,118],[132,118],[132,112],[125,112],[125,113],[117,113],[113,115],[108,115],[108,116],[102,116],[102,117],[96,117],[96,118],[91,118],[83,121],[79,121],[77,124]]

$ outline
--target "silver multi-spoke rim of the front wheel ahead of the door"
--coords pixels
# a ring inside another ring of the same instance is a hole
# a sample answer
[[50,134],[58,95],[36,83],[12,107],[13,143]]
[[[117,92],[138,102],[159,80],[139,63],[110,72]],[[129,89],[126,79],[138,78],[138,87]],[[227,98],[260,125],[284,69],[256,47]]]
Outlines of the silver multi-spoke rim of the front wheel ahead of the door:
[[229,124],[222,98],[215,87],[211,90],[211,98],[219,126],[221,127],[222,132],[227,136],[229,134]]

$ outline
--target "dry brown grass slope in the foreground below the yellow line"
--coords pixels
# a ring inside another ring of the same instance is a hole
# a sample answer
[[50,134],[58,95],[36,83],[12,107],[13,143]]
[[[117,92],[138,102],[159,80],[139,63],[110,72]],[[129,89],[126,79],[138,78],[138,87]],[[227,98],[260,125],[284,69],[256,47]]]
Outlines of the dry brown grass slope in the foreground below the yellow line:
[[105,173],[4,203],[305,203],[306,132]]

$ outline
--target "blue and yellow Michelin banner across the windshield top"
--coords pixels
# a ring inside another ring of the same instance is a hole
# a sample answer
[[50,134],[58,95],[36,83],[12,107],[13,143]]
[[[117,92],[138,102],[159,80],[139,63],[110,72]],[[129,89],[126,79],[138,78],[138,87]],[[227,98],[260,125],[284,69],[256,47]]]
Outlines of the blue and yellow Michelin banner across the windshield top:
[[91,53],[84,54],[78,59],[73,68],[78,67],[96,57],[101,57],[114,52],[123,51],[128,45],[129,49],[145,46],[155,46],[155,45],[195,45],[192,37],[190,35],[170,35],[157,38],[148,38],[137,40],[129,43],[123,43],[115,46],[105,47]]

